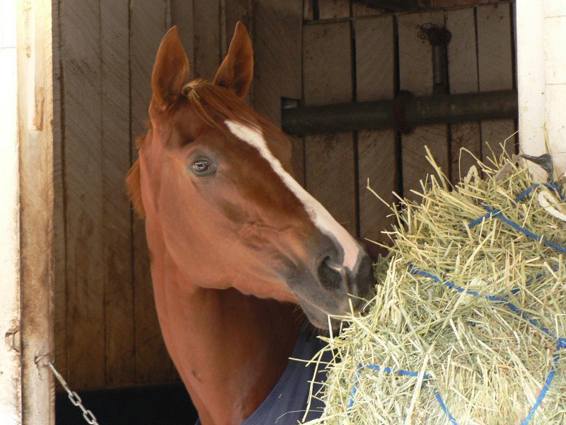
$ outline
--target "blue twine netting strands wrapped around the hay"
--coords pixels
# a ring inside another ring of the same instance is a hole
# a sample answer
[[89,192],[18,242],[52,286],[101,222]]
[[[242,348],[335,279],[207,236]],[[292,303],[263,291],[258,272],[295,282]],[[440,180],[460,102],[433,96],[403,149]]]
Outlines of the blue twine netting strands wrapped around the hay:
[[[546,188],[549,188],[550,190],[555,191],[558,194],[558,196],[560,196],[561,200],[565,200],[565,196],[563,196],[562,193],[560,193],[560,187],[558,185],[556,185],[555,183],[535,183],[532,186],[530,186],[529,188],[527,188],[525,191],[520,193],[519,196],[517,196],[515,198],[515,203],[518,203],[520,200],[524,199],[534,189],[541,186],[541,184],[543,186],[545,186]],[[507,217],[504,217],[501,210],[498,210],[497,208],[490,208],[488,205],[482,205],[482,207],[485,210],[487,210],[487,214],[483,215],[482,217],[476,218],[475,220],[472,220],[468,224],[468,227],[470,227],[470,228],[474,227],[474,226],[480,224],[481,222],[483,222],[483,220],[488,220],[491,217],[497,217],[497,218],[499,218],[499,220],[502,220],[504,223],[506,223],[507,225],[516,229],[517,231],[525,234],[526,236],[531,237],[532,239],[536,239],[537,241],[542,242],[543,244],[550,246],[554,249],[557,249],[558,251],[566,253],[565,247],[560,246],[558,244],[555,244],[553,242],[550,242],[548,239],[545,239],[544,237],[539,237],[536,234],[534,234],[533,232],[525,229],[524,227],[521,227],[516,222],[513,222],[512,220],[509,220]],[[553,270],[554,271],[558,270],[558,266],[553,267]],[[484,297],[486,300],[490,300],[490,301],[494,301],[494,302],[502,302],[502,303],[504,303],[504,305],[509,307],[509,309],[512,310],[512,312],[519,315],[519,317],[526,319],[534,327],[540,329],[541,331],[543,331],[544,334],[550,336],[551,338],[553,338],[555,340],[557,346],[556,346],[556,352],[553,356],[553,364],[551,365],[550,373],[548,374],[548,378],[546,378],[546,380],[545,380],[545,383],[543,385],[543,389],[541,390],[541,393],[538,395],[535,404],[533,404],[533,407],[531,407],[529,414],[526,416],[525,420],[521,424],[521,425],[526,425],[531,420],[531,418],[533,417],[533,414],[536,412],[536,409],[538,409],[538,406],[543,401],[543,399],[546,395],[546,392],[548,391],[548,387],[550,387],[550,383],[553,381],[554,373],[555,373],[555,364],[558,362],[558,351],[560,351],[560,349],[566,348],[566,338],[561,338],[561,337],[559,338],[558,336],[553,334],[553,332],[550,331],[548,328],[543,327],[543,325],[539,324],[535,319],[532,319],[529,316],[529,314],[527,314],[526,312],[523,312],[521,309],[519,309],[519,307],[516,307],[516,305],[514,305],[512,302],[509,302],[509,297],[507,297],[507,295],[504,295],[503,297],[499,297],[497,295],[480,294],[476,290],[468,290],[466,288],[462,288],[461,286],[455,285],[454,283],[451,283],[448,280],[441,280],[441,278],[439,278],[438,276],[434,276],[432,273],[427,273],[426,271],[422,271],[422,270],[415,268],[414,266],[412,266],[412,264],[410,264],[410,273],[417,274],[417,275],[420,275],[420,276],[424,276],[426,278],[431,278],[432,280],[435,280],[438,283],[442,283],[442,284],[448,286],[451,289],[455,289],[460,293],[467,293],[467,294],[475,295],[475,296],[478,296],[478,297]],[[533,278],[533,280],[541,278],[542,276],[544,276],[544,275],[539,274],[539,275],[535,276],[535,278]],[[516,293],[519,293],[519,289],[513,289],[510,292],[513,295],[516,295]],[[378,371],[383,370],[383,372],[385,372],[385,373],[395,373],[397,375],[405,375],[405,376],[412,376],[412,377],[417,377],[419,375],[418,372],[411,372],[410,370],[393,370],[393,369],[388,368],[388,367],[383,368],[379,365],[365,365],[365,366],[359,365],[358,370],[356,372],[356,378],[354,380],[354,387],[352,388],[352,392],[350,393],[350,402],[348,402],[348,409],[350,409],[352,407],[352,405],[354,404],[354,395],[356,395],[356,392],[357,392],[357,385],[358,385],[358,382],[359,382],[359,376],[360,376],[360,373],[362,371],[362,368],[366,368],[366,369],[370,369],[370,370],[378,370]],[[423,382],[422,382],[423,385],[424,385],[424,382],[429,380],[430,378],[431,378],[431,376],[429,374],[424,373]],[[454,416],[451,415],[448,408],[446,407],[446,404],[444,404],[444,400],[442,399],[438,390],[433,387],[433,392],[434,392],[434,397],[436,397],[442,411],[444,412],[444,414],[446,414],[446,416],[450,420],[451,424],[452,425],[458,425],[458,422],[456,421],[456,419],[454,419]]]

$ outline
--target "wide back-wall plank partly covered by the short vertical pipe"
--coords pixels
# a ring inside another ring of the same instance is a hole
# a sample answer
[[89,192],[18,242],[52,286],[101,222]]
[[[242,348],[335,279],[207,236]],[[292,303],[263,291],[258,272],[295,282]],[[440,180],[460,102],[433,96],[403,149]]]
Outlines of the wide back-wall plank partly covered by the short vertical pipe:
[[[432,47],[418,37],[424,23],[444,25],[442,12],[412,13],[398,17],[400,89],[415,96],[432,94]],[[424,159],[427,145],[441,169],[450,175],[446,125],[423,125],[401,137],[403,164],[403,194],[415,198],[411,189],[420,191],[420,180],[433,172]]]

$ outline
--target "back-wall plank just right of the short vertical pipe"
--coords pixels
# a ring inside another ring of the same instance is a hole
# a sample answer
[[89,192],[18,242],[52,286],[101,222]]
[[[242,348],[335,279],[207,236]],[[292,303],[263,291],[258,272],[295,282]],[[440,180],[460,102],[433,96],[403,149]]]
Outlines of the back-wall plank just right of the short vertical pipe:
[[[451,94],[478,91],[478,57],[475,42],[473,8],[446,12],[446,28],[452,33],[448,45],[448,77]],[[480,123],[458,123],[450,126],[453,182],[465,176],[482,159]],[[461,152],[465,148],[471,152]]]

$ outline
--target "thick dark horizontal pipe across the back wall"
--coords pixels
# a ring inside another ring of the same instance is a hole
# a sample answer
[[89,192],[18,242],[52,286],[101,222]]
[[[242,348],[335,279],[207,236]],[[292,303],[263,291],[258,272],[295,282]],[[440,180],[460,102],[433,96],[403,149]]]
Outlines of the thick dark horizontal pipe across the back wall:
[[282,110],[282,128],[290,135],[395,128],[516,118],[517,92],[437,94],[412,97],[405,92],[388,101],[301,106]]

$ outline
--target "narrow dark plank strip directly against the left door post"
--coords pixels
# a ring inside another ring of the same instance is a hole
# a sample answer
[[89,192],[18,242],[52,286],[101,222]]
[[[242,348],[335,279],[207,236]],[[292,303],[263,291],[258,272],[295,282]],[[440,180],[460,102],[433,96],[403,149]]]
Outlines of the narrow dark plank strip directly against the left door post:
[[[54,245],[54,360],[57,370],[67,377],[67,267],[65,239],[67,222],[65,222],[64,192],[64,152],[62,114],[63,74],[61,69],[61,23],[59,22],[59,0],[53,1],[53,245]],[[62,388],[61,388],[62,389]],[[59,388],[57,389],[59,390]]]

